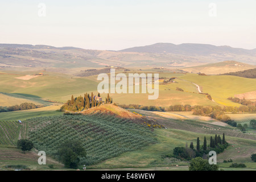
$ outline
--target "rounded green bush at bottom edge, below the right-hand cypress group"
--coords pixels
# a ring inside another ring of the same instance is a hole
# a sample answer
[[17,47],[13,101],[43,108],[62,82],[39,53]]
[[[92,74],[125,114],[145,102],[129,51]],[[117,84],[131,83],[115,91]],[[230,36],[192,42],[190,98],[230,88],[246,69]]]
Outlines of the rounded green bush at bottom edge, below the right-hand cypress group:
[[189,171],[217,171],[218,166],[215,164],[210,165],[208,160],[197,157],[191,160]]

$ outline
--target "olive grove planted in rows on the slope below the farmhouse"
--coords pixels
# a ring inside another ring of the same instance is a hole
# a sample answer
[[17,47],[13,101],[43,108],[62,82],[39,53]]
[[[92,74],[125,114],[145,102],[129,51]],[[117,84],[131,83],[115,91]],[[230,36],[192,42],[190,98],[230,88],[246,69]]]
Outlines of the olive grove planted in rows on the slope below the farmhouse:
[[80,140],[87,154],[80,164],[88,166],[157,142],[147,126],[112,115],[62,115],[27,122],[28,137],[36,149],[54,156],[63,143]]

